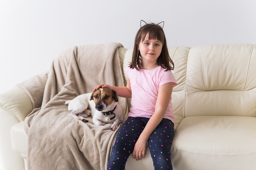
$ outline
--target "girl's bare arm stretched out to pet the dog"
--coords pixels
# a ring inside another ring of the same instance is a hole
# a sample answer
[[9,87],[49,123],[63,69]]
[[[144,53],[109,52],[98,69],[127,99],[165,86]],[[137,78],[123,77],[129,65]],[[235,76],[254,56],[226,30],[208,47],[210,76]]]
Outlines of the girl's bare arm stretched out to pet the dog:
[[99,88],[110,88],[111,90],[114,90],[117,92],[117,95],[120,97],[126,97],[131,98],[132,97],[132,90],[130,86],[130,79],[127,78],[127,84],[125,87],[117,87],[117,86],[110,86],[108,84],[100,84],[96,88],[93,89],[94,91],[97,91]]

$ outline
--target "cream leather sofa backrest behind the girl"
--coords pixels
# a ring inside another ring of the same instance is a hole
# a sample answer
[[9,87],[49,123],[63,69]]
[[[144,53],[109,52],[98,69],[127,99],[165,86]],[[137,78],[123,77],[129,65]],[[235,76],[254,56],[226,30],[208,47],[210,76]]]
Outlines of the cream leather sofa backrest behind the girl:
[[[175,122],[189,116],[256,117],[256,45],[169,46]],[[132,58],[124,54],[123,70]],[[124,73],[126,81],[126,75]]]

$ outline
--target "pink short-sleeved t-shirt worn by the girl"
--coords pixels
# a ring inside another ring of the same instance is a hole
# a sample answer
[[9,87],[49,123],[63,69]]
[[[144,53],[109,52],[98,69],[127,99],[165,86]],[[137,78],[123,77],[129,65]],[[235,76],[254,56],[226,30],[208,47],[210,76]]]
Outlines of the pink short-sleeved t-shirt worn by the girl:
[[[130,79],[132,99],[131,108],[128,116],[131,117],[148,117],[150,118],[155,112],[159,86],[173,82],[176,86],[176,80],[171,71],[165,71],[158,66],[152,70],[135,68],[126,68],[126,75]],[[170,119],[174,123],[172,97],[169,101],[164,118]]]

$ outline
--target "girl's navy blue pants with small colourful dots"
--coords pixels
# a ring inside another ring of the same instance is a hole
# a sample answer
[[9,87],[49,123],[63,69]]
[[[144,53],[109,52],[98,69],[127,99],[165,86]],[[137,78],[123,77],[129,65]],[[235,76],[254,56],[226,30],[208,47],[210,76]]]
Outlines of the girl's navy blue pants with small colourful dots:
[[[149,118],[128,117],[119,129],[108,162],[107,170],[124,170],[126,161]],[[162,119],[148,139],[148,146],[155,170],[172,170],[171,144],[174,137],[174,124]],[[142,158],[143,159],[143,158]]]

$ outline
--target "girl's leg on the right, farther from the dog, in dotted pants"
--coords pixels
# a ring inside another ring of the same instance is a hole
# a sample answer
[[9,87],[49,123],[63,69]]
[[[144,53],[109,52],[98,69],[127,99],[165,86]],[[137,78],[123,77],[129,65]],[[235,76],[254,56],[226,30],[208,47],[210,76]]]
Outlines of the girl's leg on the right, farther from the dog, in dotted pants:
[[155,170],[172,170],[171,144],[174,137],[174,125],[169,119],[163,119],[148,139],[148,146]]

